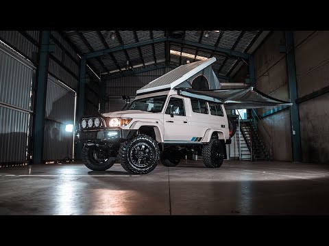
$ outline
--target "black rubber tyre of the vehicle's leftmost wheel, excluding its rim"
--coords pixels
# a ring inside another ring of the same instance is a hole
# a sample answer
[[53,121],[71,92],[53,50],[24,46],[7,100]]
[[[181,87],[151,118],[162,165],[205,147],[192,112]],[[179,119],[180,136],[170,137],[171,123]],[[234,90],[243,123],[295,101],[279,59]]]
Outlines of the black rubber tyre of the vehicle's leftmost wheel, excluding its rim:
[[116,157],[108,157],[107,161],[97,161],[94,156],[96,146],[84,146],[82,148],[82,161],[84,165],[93,171],[105,171],[112,167]]

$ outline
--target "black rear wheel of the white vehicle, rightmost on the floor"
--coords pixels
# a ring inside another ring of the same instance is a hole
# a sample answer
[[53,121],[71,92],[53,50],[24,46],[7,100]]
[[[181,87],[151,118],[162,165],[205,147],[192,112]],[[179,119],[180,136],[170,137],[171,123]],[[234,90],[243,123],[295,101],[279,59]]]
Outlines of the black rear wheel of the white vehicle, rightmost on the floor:
[[210,139],[209,143],[202,148],[204,165],[210,168],[220,167],[223,164],[223,159],[223,143],[219,139]]

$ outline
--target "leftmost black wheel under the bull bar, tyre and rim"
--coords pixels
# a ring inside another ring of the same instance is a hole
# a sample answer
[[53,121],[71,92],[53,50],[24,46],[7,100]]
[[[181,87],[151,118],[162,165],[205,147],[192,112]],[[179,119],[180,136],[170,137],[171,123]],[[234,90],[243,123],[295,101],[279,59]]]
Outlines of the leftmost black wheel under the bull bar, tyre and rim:
[[84,165],[93,171],[105,171],[112,167],[115,157],[109,156],[105,148],[97,146],[84,146],[82,149],[82,161]]

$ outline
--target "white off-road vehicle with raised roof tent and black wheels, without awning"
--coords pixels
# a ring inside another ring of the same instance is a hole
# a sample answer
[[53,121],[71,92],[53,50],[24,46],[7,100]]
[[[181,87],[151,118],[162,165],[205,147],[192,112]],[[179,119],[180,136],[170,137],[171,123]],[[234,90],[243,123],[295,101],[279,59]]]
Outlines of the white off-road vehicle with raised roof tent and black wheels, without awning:
[[234,127],[224,101],[214,95],[220,88],[210,66],[215,60],[186,64],[151,81],[124,111],[82,118],[77,135],[86,167],[106,170],[119,159],[127,172],[147,174],[159,159],[175,167],[188,154],[201,155],[206,167],[220,167]]

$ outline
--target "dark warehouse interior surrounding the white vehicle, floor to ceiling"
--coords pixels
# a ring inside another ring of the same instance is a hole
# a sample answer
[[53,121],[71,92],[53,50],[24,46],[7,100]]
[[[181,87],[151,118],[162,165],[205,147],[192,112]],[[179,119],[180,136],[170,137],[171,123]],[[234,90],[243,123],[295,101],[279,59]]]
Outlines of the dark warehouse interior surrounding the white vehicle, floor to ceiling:
[[[328,42],[329,31],[0,31],[0,215],[328,215]],[[120,111],[123,96],[211,57],[222,89],[292,105],[227,112],[239,119],[220,168],[197,155],[145,175],[85,167],[84,115]]]

